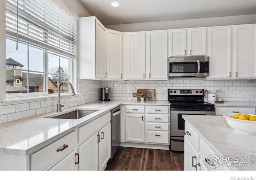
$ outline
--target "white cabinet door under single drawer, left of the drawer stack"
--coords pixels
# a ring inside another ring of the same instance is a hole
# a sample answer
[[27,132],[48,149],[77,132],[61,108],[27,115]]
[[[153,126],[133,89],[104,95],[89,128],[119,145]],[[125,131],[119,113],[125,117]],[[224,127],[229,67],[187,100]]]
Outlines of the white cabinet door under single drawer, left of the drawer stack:
[[145,114],[126,114],[126,141],[145,142]]

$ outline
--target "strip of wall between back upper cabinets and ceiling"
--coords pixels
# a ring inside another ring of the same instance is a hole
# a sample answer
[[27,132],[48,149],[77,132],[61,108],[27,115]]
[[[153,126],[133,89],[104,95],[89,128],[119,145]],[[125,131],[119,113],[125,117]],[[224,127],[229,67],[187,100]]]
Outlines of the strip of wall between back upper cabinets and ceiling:
[[178,28],[227,26],[227,25],[253,24],[253,23],[256,23],[256,14],[243,15],[243,16],[226,16],[226,17],[218,17],[218,18],[202,18],[202,19],[189,19],[189,20],[176,20],[176,21],[119,24],[119,25],[109,25],[105,27],[112,30],[117,30],[120,32],[135,32],[135,31],[164,30],[164,29],[178,29]]

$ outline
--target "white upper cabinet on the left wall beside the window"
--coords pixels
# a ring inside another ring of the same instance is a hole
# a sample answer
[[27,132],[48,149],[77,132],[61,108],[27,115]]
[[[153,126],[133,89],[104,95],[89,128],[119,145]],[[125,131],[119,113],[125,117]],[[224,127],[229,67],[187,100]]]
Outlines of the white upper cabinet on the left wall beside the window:
[[106,78],[106,28],[95,16],[79,18],[78,68],[80,79]]

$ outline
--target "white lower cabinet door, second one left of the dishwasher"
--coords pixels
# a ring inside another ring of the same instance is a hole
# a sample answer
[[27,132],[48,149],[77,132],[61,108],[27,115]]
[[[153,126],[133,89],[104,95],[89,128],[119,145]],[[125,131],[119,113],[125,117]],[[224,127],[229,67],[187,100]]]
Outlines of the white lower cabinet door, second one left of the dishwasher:
[[98,132],[78,146],[79,164],[78,170],[98,170]]

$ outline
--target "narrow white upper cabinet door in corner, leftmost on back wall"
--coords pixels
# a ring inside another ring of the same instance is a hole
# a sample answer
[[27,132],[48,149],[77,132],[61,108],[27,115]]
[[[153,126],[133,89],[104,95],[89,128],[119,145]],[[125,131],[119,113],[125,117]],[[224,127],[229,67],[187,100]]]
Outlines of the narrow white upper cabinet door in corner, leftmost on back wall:
[[107,79],[122,79],[122,32],[107,29]]

